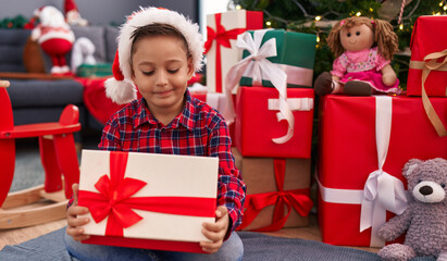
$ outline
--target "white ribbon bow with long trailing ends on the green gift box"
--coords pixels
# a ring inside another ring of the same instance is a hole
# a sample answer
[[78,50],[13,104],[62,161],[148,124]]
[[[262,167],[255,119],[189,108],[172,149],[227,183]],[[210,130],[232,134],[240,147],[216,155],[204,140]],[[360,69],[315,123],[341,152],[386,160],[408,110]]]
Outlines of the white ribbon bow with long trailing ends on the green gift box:
[[272,82],[275,89],[280,92],[280,112],[276,113],[278,122],[286,120],[288,123],[287,134],[280,138],[272,138],[275,144],[285,144],[294,136],[295,117],[287,103],[287,74],[277,65],[266,60],[269,57],[276,57],[276,39],[272,38],[262,46],[262,38],[268,29],[254,30],[253,37],[246,32],[237,36],[236,46],[239,49],[248,50],[250,55],[236,63],[229,69],[225,78],[225,95],[227,98],[226,121],[229,124],[236,117],[234,112],[232,91],[246,73],[251,75],[253,85],[261,85],[262,79]]

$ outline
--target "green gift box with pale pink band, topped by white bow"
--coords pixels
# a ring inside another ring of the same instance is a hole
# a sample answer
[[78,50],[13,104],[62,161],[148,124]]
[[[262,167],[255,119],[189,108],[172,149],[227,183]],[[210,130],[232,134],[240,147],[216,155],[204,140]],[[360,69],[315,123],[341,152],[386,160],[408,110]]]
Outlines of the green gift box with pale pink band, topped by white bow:
[[[249,30],[253,36],[254,30]],[[266,60],[278,65],[287,74],[287,87],[312,87],[313,64],[315,60],[316,36],[311,34],[286,32],[284,29],[266,30],[262,45],[271,38],[276,39],[276,57]],[[243,59],[250,53],[244,50]],[[244,75],[240,86],[253,86],[250,75]],[[262,86],[274,87],[268,79],[262,79]]]

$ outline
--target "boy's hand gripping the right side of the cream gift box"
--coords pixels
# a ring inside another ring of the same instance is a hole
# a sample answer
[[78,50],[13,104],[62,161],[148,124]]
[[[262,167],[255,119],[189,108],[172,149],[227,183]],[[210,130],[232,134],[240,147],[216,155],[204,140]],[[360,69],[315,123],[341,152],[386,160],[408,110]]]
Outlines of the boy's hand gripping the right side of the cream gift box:
[[223,239],[228,229],[228,210],[224,206],[218,207],[215,210],[215,223],[203,223],[202,234],[211,240],[200,243],[203,251],[213,253],[222,247]]

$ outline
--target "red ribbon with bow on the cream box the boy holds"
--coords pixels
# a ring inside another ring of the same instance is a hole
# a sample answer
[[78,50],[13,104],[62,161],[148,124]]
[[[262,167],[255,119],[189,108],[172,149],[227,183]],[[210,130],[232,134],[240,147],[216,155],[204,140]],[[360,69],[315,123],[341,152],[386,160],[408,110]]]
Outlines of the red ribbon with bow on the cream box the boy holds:
[[110,178],[103,175],[98,179],[95,187],[99,192],[79,190],[79,206],[89,209],[96,223],[109,216],[107,236],[123,236],[124,228],[142,220],[133,209],[177,215],[214,216],[213,198],[131,197],[147,183],[124,177],[127,157],[126,152],[110,152]]

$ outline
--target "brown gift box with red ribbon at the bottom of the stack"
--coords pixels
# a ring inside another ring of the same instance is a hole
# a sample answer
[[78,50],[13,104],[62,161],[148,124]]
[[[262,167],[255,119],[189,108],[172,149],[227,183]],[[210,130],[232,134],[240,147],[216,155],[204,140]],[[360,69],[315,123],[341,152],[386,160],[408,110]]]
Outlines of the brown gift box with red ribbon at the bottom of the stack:
[[243,231],[277,231],[308,226],[310,160],[243,157],[234,148],[236,166],[247,184]]

